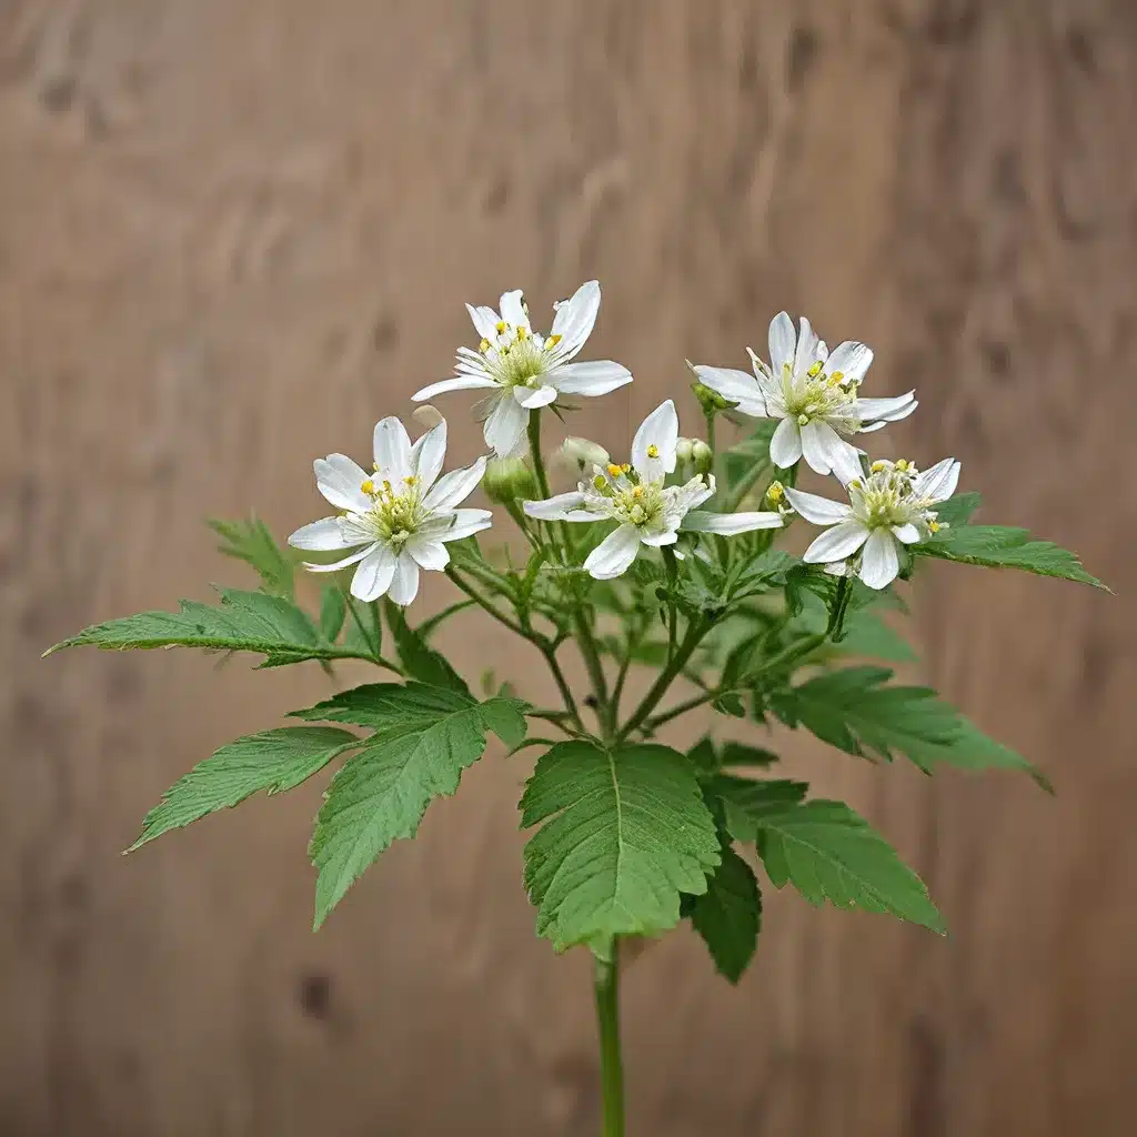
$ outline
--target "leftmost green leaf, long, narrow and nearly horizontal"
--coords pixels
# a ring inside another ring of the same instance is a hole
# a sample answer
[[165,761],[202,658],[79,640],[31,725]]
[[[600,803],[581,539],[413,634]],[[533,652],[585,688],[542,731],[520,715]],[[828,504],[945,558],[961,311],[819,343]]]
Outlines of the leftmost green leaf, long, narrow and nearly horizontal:
[[305,659],[350,659],[359,655],[347,646],[329,644],[308,615],[289,600],[265,592],[234,589],[218,589],[218,592],[221,604],[217,605],[182,600],[179,612],[140,612],[93,624],[44,654],[83,645],[115,652],[200,647],[264,655],[266,667]]

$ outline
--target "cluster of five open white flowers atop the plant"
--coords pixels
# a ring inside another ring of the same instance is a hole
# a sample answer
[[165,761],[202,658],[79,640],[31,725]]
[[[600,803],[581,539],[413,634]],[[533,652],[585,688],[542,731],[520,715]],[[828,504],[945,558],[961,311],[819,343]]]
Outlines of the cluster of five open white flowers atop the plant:
[[[555,306],[551,330],[543,335],[533,330],[521,291],[504,293],[497,312],[467,305],[480,335],[476,349],[459,348],[456,374],[415,393],[414,399],[423,401],[450,391],[489,392],[475,413],[501,466],[493,484],[487,483],[493,500],[509,503],[509,487],[545,489],[539,457],[532,455],[531,465],[520,460],[526,439],[533,437],[531,416],[540,408],[567,409],[563,396],[598,397],[632,381],[628,368],[612,360],[574,362],[599,306],[599,284],[582,284]],[[667,399],[636,432],[629,462],[613,462],[587,439],[566,439],[558,457],[579,478],[576,489],[524,500],[524,514],[541,522],[611,523],[611,532],[582,564],[595,579],[611,580],[626,572],[642,548],[671,549],[669,555],[681,558],[684,546],[697,547],[698,534],[777,529],[796,512],[827,526],[806,550],[807,562],[824,564],[832,573],[857,574],[870,588],[887,588],[899,572],[901,546],[924,540],[939,528],[935,507],[955,491],[960,464],[945,458],[920,472],[902,459],[874,462],[866,471],[863,451],[849,439],[910,415],[916,406],[914,392],[862,398],[872,351],[855,341],[830,351],[805,318],[795,331],[786,313],[775,316],[769,348],[769,364],[750,351],[753,374],[705,365],[695,371],[723,405],[779,420],[770,458],[790,473],[787,485],[774,481],[767,488],[765,500],[772,509],[699,508],[715,496],[714,455],[706,442],[680,438],[679,415]],[[442,475],[446,422],[423,410],[416,417],[435,424],[414,443],[398,418],[375,426],[370,473],[342,454],[317,459],[316,485],[341,512],[289,538],[306,550],[352,550],[331,564],[306,567],[332,572],[357,565],[351,594],[362,600],[387,596],[409,604],[418,591],[420,570],[445,570],[449,564],[447,542],[491,524],[487,509],[458,508],[485,475],[489,456]],[[794,487],[795,467],[803,458],[816,473],[836,475],[848,503]],[[682,534],[690,537],[681,541]]]

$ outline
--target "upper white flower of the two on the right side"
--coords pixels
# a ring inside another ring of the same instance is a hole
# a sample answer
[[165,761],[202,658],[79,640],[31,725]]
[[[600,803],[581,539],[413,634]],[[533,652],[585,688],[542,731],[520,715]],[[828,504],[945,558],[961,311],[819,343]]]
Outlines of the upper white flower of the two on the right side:
[[700,382],[738,404],[745,415],[780,418],[770,440],[774,465],[787,468],[804,455],[819,474],[835,473],[848,484],[861,476],[861,451],[843,435],[865,434],[907,417],[915,392],[889,399],[862,399],[857,390],[872,363],[872,350],[846,340],[832,352],[802,317],[802,332],[781,312],[770,322],[770,367],[753,351],[754,374],[730,367],[699,366]]

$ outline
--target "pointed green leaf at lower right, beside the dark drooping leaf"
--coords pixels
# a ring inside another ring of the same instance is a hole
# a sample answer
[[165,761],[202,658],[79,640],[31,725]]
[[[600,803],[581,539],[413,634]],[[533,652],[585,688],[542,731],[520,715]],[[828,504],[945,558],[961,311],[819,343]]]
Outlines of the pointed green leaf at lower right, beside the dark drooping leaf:
[[758,853],[775,888],[811,903],[887,912],[944,932],[923,881],[844,802],[803,802],[758,822]]

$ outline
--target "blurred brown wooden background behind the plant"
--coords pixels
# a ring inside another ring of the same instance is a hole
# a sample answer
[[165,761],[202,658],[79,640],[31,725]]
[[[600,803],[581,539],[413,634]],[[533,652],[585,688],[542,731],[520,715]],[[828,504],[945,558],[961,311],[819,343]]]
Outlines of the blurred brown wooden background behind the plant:
[[671,937],[625,985],[632,1132],[1131,1132],[1135,59],[1131,0],[2,0],[0,1132],[595,1131],[521,760],[313,936],[318,786],[117,854],[318,670],[39,661],[243,580],[200,518],[315,516],[310,458],[448,373],[464,300],[592,275],[637,383],[578,432],[620,445],[684,356],[739,365],[805,310],[877,348],[872,393],[919,388],[899,453],[955,454],[988,518],[1120,594],[938,566],[926,673],[1057,798],[788,744],[952,938],[774,896],[735,993]]

